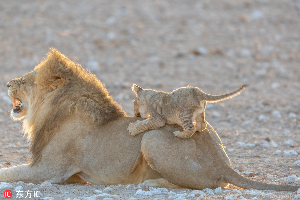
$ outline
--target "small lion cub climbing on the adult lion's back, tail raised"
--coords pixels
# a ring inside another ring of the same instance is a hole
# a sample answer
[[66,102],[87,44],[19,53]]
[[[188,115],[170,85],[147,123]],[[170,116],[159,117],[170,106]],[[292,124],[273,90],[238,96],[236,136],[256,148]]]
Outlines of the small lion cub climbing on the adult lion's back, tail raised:
[[196,131],[206,128],[204,111],[207,102],[220,102],[239,95],[248,84],[221,95],[209,95],[197,87],[181,87],[173,92],[154,89],[143,89],[133,84],[131,89],[137,95],[134,100],[134,115],[141,116],[143,121],[130,123],[128,133],[135,136],[149,129],[157,129],[168,124],[179,124],[183,131],[175,131],[176,137],[185,139]]

